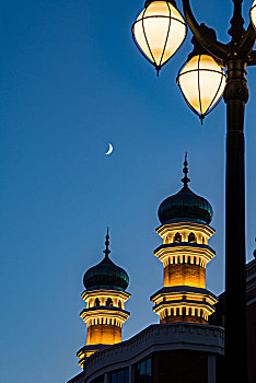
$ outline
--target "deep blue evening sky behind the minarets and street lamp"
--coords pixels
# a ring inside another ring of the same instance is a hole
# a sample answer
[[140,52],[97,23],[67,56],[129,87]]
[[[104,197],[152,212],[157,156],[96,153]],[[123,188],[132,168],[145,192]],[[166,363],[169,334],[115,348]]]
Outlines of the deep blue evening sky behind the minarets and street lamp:
[[[198,20],[228,40],[232,1],[193,0]],[[248,22],[252,1],[245,1]],[[177,5],[182,10],[181,0]],[[124,338],[158,317],[149,297],[162,285],[153,256],[160,202],[182,184],[214,210],[217,251],[207,286],[223,290],[223,101],[205,120],[186,106],[175,79],[190,34],[155,77],[131,39],[142,1],[27,0],[1,4],[1,368],[7,383],[65,382],[81,369],[80,293],[103,256],[130,275]],[[256,234],[256,69],[246,109],[247,259]],[[106,156],[108,142],[114,146]],[[235,233],[234,233],[235,235]]]

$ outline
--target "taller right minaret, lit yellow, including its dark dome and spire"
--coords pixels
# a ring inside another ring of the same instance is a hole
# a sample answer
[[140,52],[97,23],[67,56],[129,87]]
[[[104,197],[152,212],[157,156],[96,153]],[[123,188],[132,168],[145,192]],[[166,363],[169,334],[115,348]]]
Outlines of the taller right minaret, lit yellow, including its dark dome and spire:
[[159,207],[161,225],[156,233],[163,244],[154,255],[163,263],[163,288],[151,297],[160,323],[189,322],[207,324],[217,298],[206,289],[206,266],[216,253],[208,246],[214,234],[209,225],[211,205],[193,193],[184,162],[184,186]]

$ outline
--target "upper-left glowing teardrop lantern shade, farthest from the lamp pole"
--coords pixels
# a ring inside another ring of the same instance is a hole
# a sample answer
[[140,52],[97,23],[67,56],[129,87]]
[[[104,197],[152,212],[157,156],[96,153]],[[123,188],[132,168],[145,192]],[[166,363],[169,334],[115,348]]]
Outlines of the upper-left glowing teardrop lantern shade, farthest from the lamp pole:
[[156,70],[179,48],[186,32],[183,16],[167,1],[151,2],[132,25],[136,45]]

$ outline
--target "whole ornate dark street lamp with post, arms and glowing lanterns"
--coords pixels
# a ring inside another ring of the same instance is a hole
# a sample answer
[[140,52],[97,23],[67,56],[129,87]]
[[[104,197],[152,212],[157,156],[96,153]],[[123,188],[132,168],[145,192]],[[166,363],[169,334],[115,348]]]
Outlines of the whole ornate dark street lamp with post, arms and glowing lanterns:
[[[232,1],[234,12],[229,30],[231,40],[222,44],[217,40],[212,30],[207,31],[205,24],[197,23],[189,0],[182,0],[186,22],[194,34],[195,55],[189,57],[179,71],[177,83],[187,104],[201,119],[212,109],[222,92],[226,104],[224,382],[236,382],[240,375],[243,376],[243,383],[246,383],[244,113],[248,101],[246,67],[256,65],[256,51],[253,51],[256,39],[256,0],[251,10],[252,22],[246,31],[242,18],[243,0]],[[168,13],[164,13],[163,9],[168,10]],[[149,30],[146,20],[140,21],[140,36],[136,31],[137,23],[143,16],[154,21],[154,30],[149,27],[152,33],[150,38],[147,37]],[[158,71],[185,38],[182,23],[183,18],[176,10],[174,0],[148,0],[144,11],[133,24],[132,34],[137,46]],[[153,48],[151,51],[152,42],[158,46],[156,56]],[[167,46],[173,49],[167,49]],[[196,49],[199,49],[197,54]],[[223,67],[226,68],[225,83]],[[206,92],[206,82],[209,84],[209,81],[212,83],[211,95]]]

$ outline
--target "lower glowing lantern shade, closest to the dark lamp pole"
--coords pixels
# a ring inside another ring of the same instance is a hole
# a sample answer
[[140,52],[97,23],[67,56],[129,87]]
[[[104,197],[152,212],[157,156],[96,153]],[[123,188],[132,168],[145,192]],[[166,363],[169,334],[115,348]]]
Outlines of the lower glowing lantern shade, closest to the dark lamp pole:
[[222,97],[225,72],[211,56],[197,55],[182,67],[177,84],[188,106],[203,119]]

